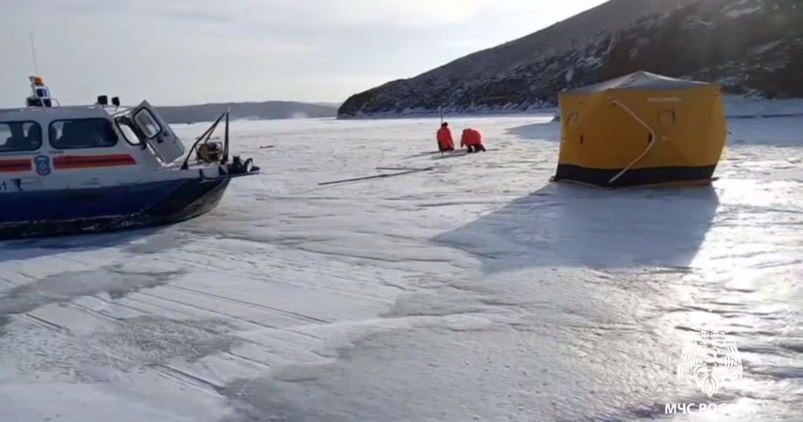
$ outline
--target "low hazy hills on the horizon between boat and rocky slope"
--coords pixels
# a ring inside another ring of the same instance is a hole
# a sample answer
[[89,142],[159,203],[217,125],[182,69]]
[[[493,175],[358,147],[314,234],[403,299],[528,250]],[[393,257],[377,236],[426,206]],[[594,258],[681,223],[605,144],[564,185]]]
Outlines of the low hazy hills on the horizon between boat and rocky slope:
[[274,120],[335,117],[337,106],[294,101],[246,103],[213,103],[187,106],[157,106],[159,114],[170,124],[210,122],[231,107],[232,119]]

